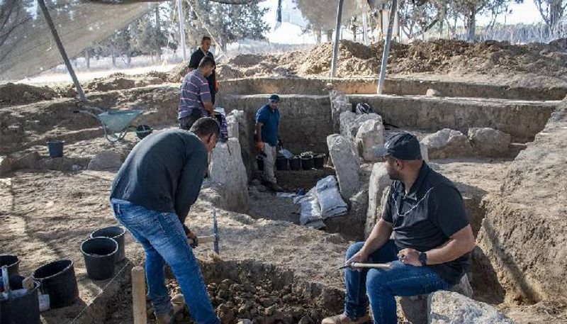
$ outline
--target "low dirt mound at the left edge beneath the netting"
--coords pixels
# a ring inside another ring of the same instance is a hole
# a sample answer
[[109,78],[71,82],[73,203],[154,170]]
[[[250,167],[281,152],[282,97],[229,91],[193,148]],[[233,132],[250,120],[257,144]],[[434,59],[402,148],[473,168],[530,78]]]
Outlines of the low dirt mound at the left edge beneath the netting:
[[13,83],[0,85],[0,105],[31,104],[56,97],[58,97],[58,94],[47,86],[39,87]]

